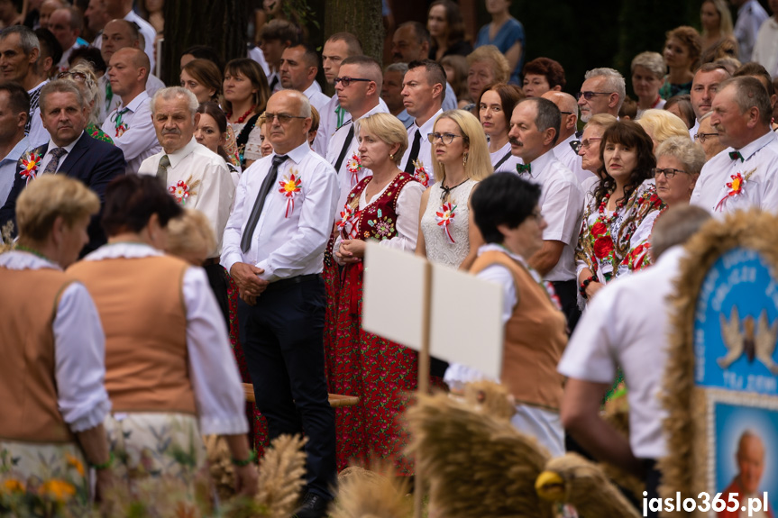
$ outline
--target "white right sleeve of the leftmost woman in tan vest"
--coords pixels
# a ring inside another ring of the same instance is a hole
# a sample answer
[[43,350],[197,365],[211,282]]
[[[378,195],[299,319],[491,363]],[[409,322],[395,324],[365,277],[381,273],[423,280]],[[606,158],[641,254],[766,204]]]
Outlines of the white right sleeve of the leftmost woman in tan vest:
[[105,391],[105,334],[84,285],[70,284],[54,317],[54,377],[59,412],[73,432],[103,423],[111,410]]

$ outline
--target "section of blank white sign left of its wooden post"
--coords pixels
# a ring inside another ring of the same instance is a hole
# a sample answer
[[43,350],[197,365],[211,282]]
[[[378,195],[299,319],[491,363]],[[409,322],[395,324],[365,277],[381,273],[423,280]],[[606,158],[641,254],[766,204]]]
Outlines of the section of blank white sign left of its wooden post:
[[426,260],[367,242],[362,328],[421,350]]

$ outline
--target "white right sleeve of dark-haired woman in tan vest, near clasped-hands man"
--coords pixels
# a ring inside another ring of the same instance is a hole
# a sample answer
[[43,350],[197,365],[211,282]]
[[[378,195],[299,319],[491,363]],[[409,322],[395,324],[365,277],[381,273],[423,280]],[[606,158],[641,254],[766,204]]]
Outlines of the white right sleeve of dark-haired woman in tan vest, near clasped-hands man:
[[244,413],[241,376],[205,270],[188,268],[183,292],[189,378],[195,392],[200,431],[204,435],[246,433],[249,423]]

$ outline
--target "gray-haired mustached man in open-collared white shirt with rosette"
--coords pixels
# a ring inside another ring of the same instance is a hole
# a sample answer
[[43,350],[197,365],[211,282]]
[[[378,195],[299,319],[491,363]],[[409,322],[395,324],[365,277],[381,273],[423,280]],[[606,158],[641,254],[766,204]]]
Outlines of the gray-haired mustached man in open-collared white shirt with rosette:
[[235,185],[224,159],[195,141],[197,106],[197,97],[181,86],[154,94],[151,120],[162,150],[143,160],[138,174],[160,178],[178,204],[206,214],[217,241],[216,250],[209,250],[212,259],[206,259],[205,266],[212,266],[219,263]]

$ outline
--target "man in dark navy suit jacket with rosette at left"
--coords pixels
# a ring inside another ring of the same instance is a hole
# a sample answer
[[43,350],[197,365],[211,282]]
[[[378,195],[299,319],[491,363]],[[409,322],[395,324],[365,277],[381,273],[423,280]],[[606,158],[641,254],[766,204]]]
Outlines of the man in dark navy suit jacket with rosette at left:
[[[63,174],[78,178],[95,191],[102,204],[105,187],[119,175],[124,175],[122,150],[90,137],[87,126],[87,107],[84,97],[72,81],[58,79],[41,88],[41,120],[50,139],[39,148],[25,153],[16,168],[14,186],[0,209],[0,226],[16,222],[16,198],[29,182],[42,174]],[[100,214],[89,223],[89,242],[81,256],[105,244],[105,233],[100,226]]]

